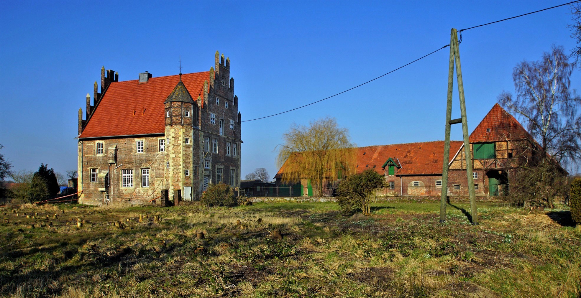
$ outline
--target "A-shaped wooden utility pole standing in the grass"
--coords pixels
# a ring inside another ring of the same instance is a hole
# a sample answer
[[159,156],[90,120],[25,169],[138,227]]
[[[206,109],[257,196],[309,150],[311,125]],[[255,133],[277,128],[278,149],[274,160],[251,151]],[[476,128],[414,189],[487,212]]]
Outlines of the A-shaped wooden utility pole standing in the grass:
[[[458,96],[460,97],[460,119],[452,119],[452,88],[454,87],[454,62],[456,62],[456,77],[458,80]],[[468,120],[466,118],[466,104],[464,100],[464,84],[462,83],[462,69],[460,66],[460,50],[458,49],[458,35],[452,28],[450,33],[450,64],[448,69],[448,98],[446,107],[446,136],[444,137],[444,165],[442,169],[442,197],[440,198],[440,222],[446,221],[446,199],[448,195],[448,170],[450,163],[450,127],[452,124],[462,123],[464,135],[464,156],[466,159],[466,174],[468,178],[468,194],[470,196],[470,214],[472,224],[478,225],[476,213],[476,195],[474,193],[474,178],[472,177],[472,153],[468,142]]]

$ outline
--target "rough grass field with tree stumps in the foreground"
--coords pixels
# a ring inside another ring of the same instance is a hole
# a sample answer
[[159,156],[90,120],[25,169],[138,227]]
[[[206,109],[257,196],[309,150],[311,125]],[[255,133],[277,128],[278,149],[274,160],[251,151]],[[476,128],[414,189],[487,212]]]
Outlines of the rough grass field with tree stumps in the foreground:
[[0,297],[581,295],[568,211],[482,203],[472,226],[467,204],[447,210],[439,224],[437,203],[376,203],[370,217],[332,202],[2,208]]

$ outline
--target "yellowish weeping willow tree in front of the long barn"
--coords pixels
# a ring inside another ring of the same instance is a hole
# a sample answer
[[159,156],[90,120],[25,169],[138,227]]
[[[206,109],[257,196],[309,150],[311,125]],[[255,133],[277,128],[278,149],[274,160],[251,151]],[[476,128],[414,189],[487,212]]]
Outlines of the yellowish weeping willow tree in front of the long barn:
[[283,135],[277,158],[283,183],[310,179],[315,196],[322,196],[323,180],[335,181],[354,173],[354,144],[349,130],[335,118],[311,121],[309,126],[293,123]]

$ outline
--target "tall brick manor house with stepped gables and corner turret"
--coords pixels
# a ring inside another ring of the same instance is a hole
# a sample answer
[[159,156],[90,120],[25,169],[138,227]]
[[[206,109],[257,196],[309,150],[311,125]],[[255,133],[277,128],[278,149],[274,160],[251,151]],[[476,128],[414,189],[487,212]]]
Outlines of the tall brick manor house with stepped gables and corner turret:
[[78,202],[199,198],[210,183],[240,184],[241,114],[230,60],[209,71],[119,81],[101,69],[85,120],[78,110]]

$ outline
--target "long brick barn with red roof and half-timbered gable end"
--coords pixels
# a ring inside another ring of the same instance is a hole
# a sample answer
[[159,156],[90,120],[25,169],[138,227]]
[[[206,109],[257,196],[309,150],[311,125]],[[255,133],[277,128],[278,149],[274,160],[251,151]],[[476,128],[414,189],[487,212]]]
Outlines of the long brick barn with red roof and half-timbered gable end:
[[[518,157],[529,154],[520,145],[526,140],[536,143],[517,119],[496,103],[469,136],[476,196],[507,193],[511,175],[519,166]],[[366,146],[355,150],[357,173],[371,168],[385,176],[388,188],[382,189],[378,195],[440,196],[442,193],[444,141]],[[450,141],[449,160],[447,193],[467,196],[464,142]],[[279,192],[293,196],[312,195],[312,186],[307,179],[283,182],[284,170],[283,164],[274,177]],[[325,181],[323,193],[331,195],[336,182]]]

